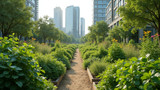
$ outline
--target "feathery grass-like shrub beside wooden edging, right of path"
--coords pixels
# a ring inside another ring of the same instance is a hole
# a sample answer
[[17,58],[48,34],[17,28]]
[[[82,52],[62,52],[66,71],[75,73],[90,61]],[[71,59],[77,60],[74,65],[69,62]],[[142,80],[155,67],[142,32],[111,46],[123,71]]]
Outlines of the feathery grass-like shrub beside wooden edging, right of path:
[[104,62],[99,62],[99,61],[94,61],[90,66],[89,69],[92,73],[92,75],[97,76],[103,71],[105,71],[107,67],[107,63]]

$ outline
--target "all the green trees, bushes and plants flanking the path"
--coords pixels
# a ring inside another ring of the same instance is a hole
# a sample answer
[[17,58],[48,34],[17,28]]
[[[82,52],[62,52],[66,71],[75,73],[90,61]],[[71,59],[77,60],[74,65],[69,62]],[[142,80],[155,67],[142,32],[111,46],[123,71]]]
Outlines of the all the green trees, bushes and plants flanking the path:
[[[160,2],[125,1],[118,9],[120,26],[110,29],[106,22],[96,22],[80,39],[82,44],[75,45],[69,43],[77,40],[48,16],[32,21],[25,0],[1,0],[0,89],[56,89],[52,81],[71,68],[79,48],[83,68],[101,79],[98,90],[160,90]],[[141,43],[135,42],[131,32],[146,25],[157,33],[144,31]]]

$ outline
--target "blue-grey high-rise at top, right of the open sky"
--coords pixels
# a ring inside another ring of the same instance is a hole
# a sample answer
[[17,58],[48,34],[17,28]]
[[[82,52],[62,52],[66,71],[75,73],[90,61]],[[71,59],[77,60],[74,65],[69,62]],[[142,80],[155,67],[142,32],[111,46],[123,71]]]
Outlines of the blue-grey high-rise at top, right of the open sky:
[[93,0],[93,24],[106,20],[106,7],[110,0]]

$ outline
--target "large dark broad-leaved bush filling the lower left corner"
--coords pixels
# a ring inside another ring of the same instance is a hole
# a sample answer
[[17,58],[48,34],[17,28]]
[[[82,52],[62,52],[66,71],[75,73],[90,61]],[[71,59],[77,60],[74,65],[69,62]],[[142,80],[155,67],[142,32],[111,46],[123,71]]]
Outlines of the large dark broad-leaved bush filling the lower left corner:
[[55,87],[41,76],[41,68],[32,52],[33,47],[24,43],[18,46],[17,38],[0,37],[0,89],[44,90]]

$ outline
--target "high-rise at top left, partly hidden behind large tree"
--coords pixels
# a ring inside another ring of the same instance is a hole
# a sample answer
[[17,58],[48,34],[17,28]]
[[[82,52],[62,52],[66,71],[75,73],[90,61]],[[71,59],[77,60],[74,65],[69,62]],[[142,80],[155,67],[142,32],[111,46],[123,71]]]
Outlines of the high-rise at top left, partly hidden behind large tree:
[[26,6],[32,7],[33,20],[38,20],[38,0],[26,0]]

